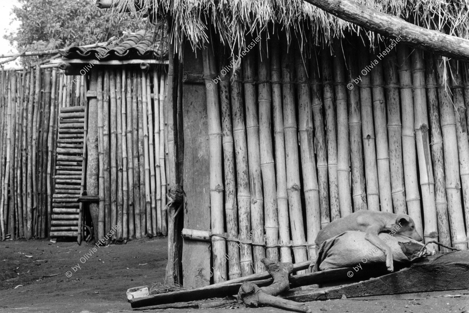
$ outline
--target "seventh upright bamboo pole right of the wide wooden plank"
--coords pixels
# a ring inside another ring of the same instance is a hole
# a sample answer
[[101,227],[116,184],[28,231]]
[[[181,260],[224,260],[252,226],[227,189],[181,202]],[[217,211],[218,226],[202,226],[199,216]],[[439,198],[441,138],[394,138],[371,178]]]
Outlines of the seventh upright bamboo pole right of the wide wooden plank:
[[[303,213],[300,195],[300,169],[298,159],[298,135],[295,118],[295,93],[293,56],[287,52],[286,40],[283,40],[281,67],[283,91],[283,130],[285,136],[285,156],[287,164],[287,194],[292,233],[292,247],[295,263],[308,260],[304,234]],[[300,273],[301,274],[301,273]]]

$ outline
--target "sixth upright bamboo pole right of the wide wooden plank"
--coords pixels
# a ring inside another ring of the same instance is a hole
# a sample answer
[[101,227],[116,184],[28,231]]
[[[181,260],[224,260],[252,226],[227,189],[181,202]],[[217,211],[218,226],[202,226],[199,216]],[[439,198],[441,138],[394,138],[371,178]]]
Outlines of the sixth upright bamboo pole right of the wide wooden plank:
[[288,221],[287,168],[285,163],[282,90],[280,85],[282,77],[280,73],[280,51],[278,38],[273,38],[271,48],[273,131],[275,139],[274,146],[275,169],[277,177],[277,213],[279,216],[280,262],[291,262],[292,254],[290,251],[290,225]]

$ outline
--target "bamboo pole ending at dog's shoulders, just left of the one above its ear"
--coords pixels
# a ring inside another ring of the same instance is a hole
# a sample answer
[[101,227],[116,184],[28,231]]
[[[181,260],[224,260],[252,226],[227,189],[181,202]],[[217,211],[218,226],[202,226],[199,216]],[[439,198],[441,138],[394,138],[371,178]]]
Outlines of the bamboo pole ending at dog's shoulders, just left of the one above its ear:
[[[379,200],[382,212],[393,213],[391,173],[389,169],[389,145],[387,142],[386,129],[386,100],[384,88],[382,87],[384,85],[383,65],[377,59],[371,61],[370,64],[375,64],[374,68],[371,70],[371,84],[373,87],[373,117],[375,121]],[[366,69],[369,70],[370,67]]]

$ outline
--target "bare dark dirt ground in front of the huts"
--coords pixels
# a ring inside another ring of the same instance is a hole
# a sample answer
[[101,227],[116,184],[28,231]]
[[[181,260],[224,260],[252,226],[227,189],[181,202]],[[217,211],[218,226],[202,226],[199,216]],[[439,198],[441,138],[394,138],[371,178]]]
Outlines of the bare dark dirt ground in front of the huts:
[[[1,242],[0,312],[129,312],[132,309],[125,295],[127,289],[151,286],[164,279],[165,238],[145,238],[127,244],[97,247],[94,253],[90,252],[92,248],[92,244],[79,246],[75,242],[51,243],[47,240]],[[82,257],[85,257],[82,259],[84,263],[80,261]],[[68,271],[70,277],[67,276]],[[454,297],[456,295],[459,297]],[[469,290],[316,301],[310,303],[310,308],[313,313],[469,313]],[[221,313],[226,310],[144,311]],[[271,307],[239,307],[233,311],[282,312]]]

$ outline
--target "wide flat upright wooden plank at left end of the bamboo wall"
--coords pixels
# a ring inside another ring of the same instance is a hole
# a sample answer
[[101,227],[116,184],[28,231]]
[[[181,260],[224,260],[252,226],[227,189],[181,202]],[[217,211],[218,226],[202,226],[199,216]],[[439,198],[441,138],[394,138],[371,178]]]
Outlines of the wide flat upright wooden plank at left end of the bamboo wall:
[[[198,51],[197,55],[202,55]],[[202,58],[195,58],[192,49],[185,51],[184,70],[202,72]],[[184,228],[210,229],[210,180],[207,106],[205,85],[182,85],[182,116],[184,125],[184,191],[187,206],[184,209]],[[197,177],[197,179],[195,179]],[[183,285],[197,288],[210,283],[210,244],[203,241],[183,239],[182,268]]]

